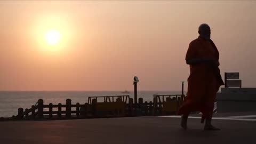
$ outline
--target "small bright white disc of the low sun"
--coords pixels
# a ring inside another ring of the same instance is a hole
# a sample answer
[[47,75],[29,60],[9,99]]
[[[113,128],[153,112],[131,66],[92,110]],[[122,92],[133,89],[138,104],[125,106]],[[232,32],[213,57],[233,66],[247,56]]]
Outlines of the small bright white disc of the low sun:
[[46,32],[45,38],[48,44],[55,45],[60,42],[60,33],[57,30],[49,30]]

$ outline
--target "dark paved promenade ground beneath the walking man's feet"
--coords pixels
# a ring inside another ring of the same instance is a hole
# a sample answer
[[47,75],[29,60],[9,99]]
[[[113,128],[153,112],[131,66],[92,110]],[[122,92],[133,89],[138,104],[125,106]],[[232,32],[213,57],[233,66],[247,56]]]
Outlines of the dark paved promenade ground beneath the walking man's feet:
[[[246,120],[247,119],[247,120]],[[199,115],[0,122],[0,143],[256,143],[256,113],[218,114],[221,131],[203,131]]]

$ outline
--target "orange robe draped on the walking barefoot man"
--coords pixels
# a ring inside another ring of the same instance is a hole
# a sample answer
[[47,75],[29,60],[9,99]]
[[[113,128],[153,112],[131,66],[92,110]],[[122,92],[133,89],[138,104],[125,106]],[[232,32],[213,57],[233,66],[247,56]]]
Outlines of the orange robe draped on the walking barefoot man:
[[[186,60],[198,58],[219,60],[219,52],[211,40],[198,37],[189,44]],[[223,84],[219,68],[209,63],[190,65],[187,97],[178,114],[189,115],[191,111],[201,111],[204,118],[211,118],[216,93]]]

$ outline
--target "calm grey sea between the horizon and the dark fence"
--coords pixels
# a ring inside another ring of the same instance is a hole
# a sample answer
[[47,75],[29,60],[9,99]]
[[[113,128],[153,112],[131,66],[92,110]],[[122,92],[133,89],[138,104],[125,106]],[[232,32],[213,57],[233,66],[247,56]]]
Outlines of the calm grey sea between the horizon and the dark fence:
[[[138,91],[138,98],[144,101],[153,101],[153,94],[181,94],[180,91]],[[134,97],[133,91],[123,94],[121,91],[0,91],[0,117],[11,117],[18,114],[18,108],[31,108],[38,99],[43,99],[44,103],[66,103],[66,99],[71,99],[72,103],[85,103],[88,97],[105,95],[130,95]]]

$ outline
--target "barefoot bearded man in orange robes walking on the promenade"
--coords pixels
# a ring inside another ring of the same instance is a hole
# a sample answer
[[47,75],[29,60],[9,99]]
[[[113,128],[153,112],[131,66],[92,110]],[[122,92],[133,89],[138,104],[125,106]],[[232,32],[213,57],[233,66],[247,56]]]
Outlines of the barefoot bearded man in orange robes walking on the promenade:
[[219,52],[211,40],[211,29],[203,23],[198,28],[199,37],[189,44],[186,62],[190,67],[188,92],[179,109],[181,126],[187,129],[191,111],[201,111],[206,119],[204,130],[220,130],[211,124],[214,100],[219,87],[223,85],[219,69]]

